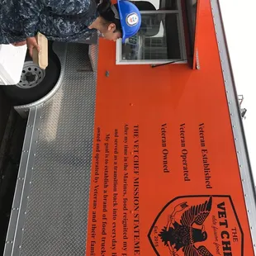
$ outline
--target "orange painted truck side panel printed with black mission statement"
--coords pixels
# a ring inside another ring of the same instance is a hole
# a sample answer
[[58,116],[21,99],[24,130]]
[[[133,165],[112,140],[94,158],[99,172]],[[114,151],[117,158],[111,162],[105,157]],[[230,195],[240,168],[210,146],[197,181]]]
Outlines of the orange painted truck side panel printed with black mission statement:
[[210,1],[197,46],[152,69],[100,42],[88,255],[254,255]]

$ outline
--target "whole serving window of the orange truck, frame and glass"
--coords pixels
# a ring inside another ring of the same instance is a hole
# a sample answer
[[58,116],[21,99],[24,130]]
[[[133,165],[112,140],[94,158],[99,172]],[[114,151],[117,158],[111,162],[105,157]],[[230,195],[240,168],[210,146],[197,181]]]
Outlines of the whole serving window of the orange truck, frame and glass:
[[[131,1],[139,8],[142,24],[135,36],[116,41],[116,64],[187,63],[187,38],[184,33],[184,13],[191,14],[197,1],[186,0]],[[188,7],[187,7],[188,6]],[[186,19],[188,30],[195,34],[195,17]],[[192,28],[191,28],[192,27]],[[185,40],[186,39],[186,40]]]

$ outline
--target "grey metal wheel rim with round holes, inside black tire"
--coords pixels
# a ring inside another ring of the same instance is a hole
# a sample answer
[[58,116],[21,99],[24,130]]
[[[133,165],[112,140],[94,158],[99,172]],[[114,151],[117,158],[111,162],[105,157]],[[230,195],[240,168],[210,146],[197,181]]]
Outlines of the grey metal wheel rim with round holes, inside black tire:
[[27,61],[22,69],[20,83],[17,87],[22,89],[30,89],[36,87],[45,78],[45,70],[34,64],[32,61]]

